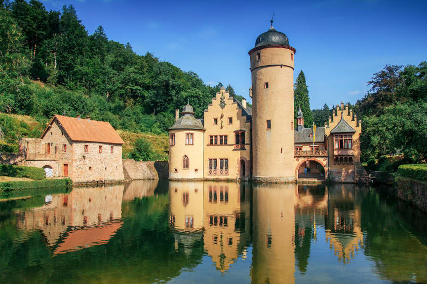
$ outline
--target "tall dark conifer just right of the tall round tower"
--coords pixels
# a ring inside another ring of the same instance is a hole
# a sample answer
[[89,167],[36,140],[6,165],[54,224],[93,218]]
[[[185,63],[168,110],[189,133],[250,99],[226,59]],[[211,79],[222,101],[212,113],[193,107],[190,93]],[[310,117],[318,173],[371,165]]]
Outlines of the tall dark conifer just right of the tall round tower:
[[306,83],[306,76],[302,70],[294,85],[294,117],[297,117],[299,106],[301,106],[304,114],[304,127],[311,127],[313,116],[310,109],[309,90]]

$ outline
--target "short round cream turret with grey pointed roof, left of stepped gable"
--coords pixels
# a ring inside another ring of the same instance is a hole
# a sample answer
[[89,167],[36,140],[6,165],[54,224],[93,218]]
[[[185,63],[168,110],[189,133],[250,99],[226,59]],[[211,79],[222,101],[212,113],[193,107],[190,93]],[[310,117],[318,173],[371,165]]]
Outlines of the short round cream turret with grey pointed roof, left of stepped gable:
[[194,117],[193,106],[183,107],[181,116],[169,128],[169,178],[203,178],[203,125]]

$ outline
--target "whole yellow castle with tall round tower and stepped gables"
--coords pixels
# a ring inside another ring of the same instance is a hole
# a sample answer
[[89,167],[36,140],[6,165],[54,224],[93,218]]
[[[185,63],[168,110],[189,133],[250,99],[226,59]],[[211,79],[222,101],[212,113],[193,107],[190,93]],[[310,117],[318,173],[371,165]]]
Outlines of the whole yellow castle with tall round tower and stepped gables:
[[361,121],[343,103],[323,127],[294,125],[295,48],[272,26],[249,51],[252,86],[237,101],[225,88],[203,119],[187,104],[169,129],[170,179],[234,179],[255,182],[326,180],[366,182],[360,164]]

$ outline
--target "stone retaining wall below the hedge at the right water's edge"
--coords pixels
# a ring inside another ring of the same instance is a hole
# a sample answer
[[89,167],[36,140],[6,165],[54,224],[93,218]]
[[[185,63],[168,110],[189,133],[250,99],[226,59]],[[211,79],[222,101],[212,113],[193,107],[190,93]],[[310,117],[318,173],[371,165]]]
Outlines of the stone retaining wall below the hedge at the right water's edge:
[[397,177],[395,180],[395,195],[427,211],[427,182]]

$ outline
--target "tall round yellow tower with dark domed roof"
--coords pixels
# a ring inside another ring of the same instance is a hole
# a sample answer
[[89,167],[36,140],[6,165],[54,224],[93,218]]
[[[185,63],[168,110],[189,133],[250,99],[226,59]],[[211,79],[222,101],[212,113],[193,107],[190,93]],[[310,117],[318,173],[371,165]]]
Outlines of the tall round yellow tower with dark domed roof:
[[255,182],[295,180],[294,55],[288,37],[273,26],[249,51]]

